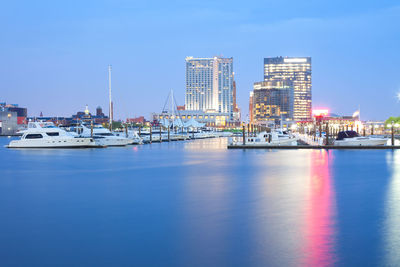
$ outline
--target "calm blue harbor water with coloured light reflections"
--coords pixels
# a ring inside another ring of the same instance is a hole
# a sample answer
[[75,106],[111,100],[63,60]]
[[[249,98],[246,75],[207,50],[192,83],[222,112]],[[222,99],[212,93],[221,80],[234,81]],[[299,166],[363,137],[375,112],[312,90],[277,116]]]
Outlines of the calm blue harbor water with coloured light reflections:
[[400,151],[8,142],[0,266],[400,264]]

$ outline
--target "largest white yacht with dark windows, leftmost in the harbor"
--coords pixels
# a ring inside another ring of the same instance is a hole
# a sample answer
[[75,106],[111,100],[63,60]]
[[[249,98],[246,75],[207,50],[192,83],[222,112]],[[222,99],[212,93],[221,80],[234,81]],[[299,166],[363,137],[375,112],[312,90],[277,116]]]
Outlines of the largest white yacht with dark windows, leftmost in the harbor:
[[8,148],[84,148],[96,147],[93,138],[77,137],[52,122],[29,122],[28,128],[20,131],[21,139],[13,140]]

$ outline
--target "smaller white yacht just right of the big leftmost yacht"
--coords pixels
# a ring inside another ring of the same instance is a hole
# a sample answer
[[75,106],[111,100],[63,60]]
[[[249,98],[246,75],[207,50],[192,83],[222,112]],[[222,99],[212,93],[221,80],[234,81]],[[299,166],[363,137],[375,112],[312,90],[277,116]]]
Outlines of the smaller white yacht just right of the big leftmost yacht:
[[132,143],[132,141],[123,136],[116,136],[110,130],[104,128],[99,124],[93,125],[93,135],[91,132],[91,126],[81,125],[82,132],[80,136],[93,137],[95,142],[101,146],[126,146]]

